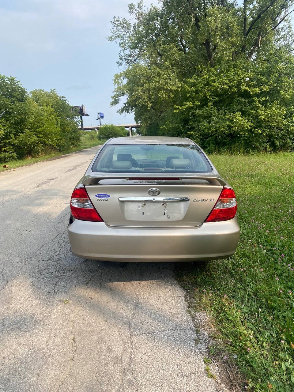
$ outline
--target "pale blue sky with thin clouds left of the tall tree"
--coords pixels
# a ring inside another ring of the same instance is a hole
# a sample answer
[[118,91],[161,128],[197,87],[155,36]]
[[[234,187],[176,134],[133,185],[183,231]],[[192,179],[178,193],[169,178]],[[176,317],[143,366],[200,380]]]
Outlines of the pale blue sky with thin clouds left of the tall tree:
[[[71,105],[85,105],[84,126],[133,123],[110,107],[119,47],[107,41],[113,16],[127,17],[131,0],[1,0],[0,74],[27,91],[56,89]],[[148,6],[157,1],[145,0]]]

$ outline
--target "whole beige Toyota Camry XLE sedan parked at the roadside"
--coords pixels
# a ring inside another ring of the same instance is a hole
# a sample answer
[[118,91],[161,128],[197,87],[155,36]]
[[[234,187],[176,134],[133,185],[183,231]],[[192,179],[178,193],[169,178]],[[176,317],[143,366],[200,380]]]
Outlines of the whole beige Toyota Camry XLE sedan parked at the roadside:
[[205,261],[236,251],[237,200],[187,138],[109,139],[71,196],[72,252],[102,261]]

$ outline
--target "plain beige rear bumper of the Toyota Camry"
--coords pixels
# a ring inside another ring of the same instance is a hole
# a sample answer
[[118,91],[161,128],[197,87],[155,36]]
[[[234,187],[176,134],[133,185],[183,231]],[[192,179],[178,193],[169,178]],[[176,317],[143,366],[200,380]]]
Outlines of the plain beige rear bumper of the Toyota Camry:
[[237,217],[198,227],[109,227],[74,220],[68,226],[72,252],[101,261],[197,261],[226,258],[236,251]]

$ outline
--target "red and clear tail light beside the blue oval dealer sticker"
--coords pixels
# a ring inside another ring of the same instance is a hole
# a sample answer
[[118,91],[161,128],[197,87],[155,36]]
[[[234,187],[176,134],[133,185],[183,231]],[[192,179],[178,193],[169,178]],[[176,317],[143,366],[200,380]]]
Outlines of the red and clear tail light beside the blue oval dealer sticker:
[[71,213],[79,220],[103,222],[103,219],[94,208],[85,188],[74,189],[71,195]]

